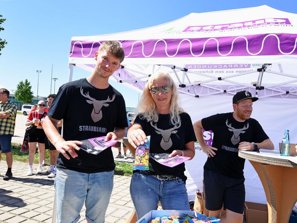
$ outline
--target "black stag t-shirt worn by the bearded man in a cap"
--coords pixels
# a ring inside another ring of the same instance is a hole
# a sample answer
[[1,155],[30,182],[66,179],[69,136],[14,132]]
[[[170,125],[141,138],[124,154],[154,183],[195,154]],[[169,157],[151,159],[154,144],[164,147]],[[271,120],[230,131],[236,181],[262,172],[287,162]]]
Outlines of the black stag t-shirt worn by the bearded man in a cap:
[[233,112],[215,114],[201,120],[206,131],[213,131],[214,157],[207,158],[204,169],[210,169],[232,178],[243,178],[245,159],[238,156],[239,142],[260,143],[269,137],[257,120],[249,118],[238,122]]

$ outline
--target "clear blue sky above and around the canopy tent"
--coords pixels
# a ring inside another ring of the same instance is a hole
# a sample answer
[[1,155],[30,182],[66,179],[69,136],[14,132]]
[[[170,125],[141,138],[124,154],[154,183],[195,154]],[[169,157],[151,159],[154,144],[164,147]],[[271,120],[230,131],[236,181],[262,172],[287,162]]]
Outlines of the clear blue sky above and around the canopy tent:
[[[0,56],[0,87],[15,90],[28,79],[34,95],[50,94],[51,71],[59,86],[67,82],[69,45],[72,36],[90,36],[141,29],[170,22],[191,12],[211,12],[268,5],[297,13],[296,1],[25,1],[0,0],[0,14],[6,18],[0,37],[8,44]],[[87,77],[79,68],[73,80]],[[138,92],[111,82],[135,107]],[[52,93],[54,82],[52,82]]]

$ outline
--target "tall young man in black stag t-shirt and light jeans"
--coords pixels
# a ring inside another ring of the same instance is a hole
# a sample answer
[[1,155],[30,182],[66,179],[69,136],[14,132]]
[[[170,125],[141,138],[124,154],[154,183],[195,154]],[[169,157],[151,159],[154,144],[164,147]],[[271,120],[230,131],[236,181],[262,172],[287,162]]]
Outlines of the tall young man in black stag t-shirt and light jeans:
[[[99,136],[119,140],[126,133],[124,98],[108,83],[124,60],[124,50],[117,42],[103,42],[95,60],[91,76],[60,87],[43,123],[59,151],[55,179],[59,223],[77,222],[84,203],[88,222],[104,222],[115,169],[111,147],[94,155],[80,150],[78,140]],[[57,129],[61,119],[63,138]]]

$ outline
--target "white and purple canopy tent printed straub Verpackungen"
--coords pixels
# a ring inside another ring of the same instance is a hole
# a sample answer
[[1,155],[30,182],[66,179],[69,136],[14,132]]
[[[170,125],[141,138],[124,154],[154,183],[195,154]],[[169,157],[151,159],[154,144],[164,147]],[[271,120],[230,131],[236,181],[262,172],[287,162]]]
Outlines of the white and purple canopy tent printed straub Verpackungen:
[[[252,117],[278,148],[285,129],[297,142],[297,15],[266,5],[207,13],[191,13],[169,23],[129,32],[72,37],[73,65],[90,72],[94,53],[106,40],[119,41],[125,51],[111,80],[142,91],[150,74],[167,70],[179,87],[181,103],[192,121],[231,112],[232,96],[248,90],[260,98]],[[211,138],[205,133],[205,139]],[[202,189],[206,155],[197,146],[186,163],[187,189],[194,200]],[[246,200],[266,202],[262,184],[249,162],[245,167]],[[259,196],[262,194],[262,196]]]

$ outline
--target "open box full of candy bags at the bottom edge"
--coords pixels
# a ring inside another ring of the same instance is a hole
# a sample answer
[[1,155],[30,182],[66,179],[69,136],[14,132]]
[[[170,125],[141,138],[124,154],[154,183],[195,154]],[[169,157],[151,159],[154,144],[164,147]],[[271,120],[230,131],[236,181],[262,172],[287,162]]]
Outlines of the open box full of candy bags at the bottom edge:
[[153,210],[136,223],[211,223],[219,222],[216,218],[207,218],[196,211]]

